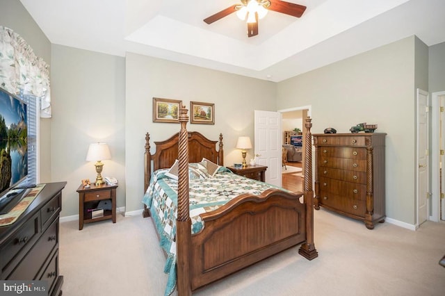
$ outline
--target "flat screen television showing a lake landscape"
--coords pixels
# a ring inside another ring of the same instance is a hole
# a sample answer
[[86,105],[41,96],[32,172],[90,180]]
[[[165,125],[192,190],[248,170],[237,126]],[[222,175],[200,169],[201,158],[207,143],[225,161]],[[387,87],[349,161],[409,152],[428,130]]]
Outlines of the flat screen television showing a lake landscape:
[[8,213],[26,194],[19,184],[27,175],[26,103],[0,88],[0,214]]

